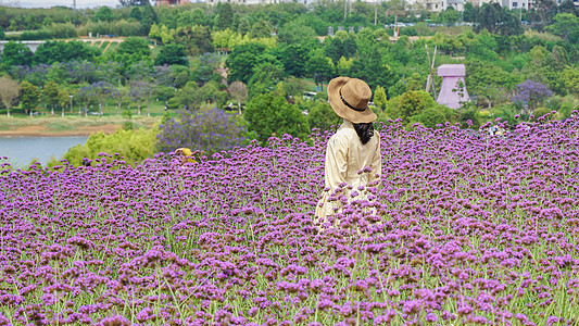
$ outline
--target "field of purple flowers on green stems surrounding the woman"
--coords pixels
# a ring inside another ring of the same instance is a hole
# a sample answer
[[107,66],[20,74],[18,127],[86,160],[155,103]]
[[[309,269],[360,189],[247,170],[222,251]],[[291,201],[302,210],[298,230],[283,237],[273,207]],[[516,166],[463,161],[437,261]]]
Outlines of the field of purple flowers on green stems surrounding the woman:
[[0,325],[579,323],[577,124],[383,126],[382,185],[318,231],[329,136],[3,164]]

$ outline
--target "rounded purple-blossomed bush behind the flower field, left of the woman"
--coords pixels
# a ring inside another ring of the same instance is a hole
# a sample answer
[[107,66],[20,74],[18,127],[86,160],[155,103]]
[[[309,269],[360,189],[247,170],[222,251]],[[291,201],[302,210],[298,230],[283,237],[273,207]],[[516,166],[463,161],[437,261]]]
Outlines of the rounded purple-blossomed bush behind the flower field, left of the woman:
[[185,147],[204,151],[206,155],[241,146],[247,134],[242,121],[217,108],[194,112],[179,110],[177,117],[159,128],[159,151],[173,152]]

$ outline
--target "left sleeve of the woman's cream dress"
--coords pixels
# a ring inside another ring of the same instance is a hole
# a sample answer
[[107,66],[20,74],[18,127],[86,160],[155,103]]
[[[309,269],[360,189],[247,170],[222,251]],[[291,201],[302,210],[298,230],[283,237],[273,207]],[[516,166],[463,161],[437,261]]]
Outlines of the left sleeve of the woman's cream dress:
[[338,185],[345,181],[348,170],[348,139],[344,137],[332,138],[328,141],[326,150],[326,187],[332,193]]

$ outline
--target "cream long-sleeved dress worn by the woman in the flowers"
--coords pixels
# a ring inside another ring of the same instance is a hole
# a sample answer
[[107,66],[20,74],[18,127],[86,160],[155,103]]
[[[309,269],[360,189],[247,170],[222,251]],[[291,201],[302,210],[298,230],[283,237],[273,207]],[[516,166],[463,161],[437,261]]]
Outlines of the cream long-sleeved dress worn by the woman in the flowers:
[[[370,167],[372,172],[358,173],[365,167]],[[381,174],[382,160],[380,156],[380,137],[378,131],[368,142],[362,145],[360,137],[352,123],[343,121],[338,131],[328,140],[326,150],[325,188],[322,199],[316,208],[316,220],[318,223],[326,222],[326,217],[333,215],[342,206],[340,200],[342,195],[352,200],[351,193],[357,191],[360,195],[353,199],[365,198],[365,191],[360,191],[360,186],[366,186],[379,178]],[[336,195],[338,185],[345,183],[350,187],[341,187],[342,190]],[[333,195],[333,196],[332,196]],[[328,199],[330,201],[328,201]]]

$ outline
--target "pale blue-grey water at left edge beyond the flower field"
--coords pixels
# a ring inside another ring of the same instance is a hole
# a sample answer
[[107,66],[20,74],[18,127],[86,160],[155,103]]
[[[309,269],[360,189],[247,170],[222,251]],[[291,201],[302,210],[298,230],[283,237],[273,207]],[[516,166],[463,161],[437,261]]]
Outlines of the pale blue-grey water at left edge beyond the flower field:
[[26,167],[33,160],[43,166],[52,156],[62,159],[66,151],[84,145],[88,136],[70,137],[0,137],[0,158],[8,156],[13,167]]

